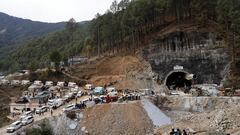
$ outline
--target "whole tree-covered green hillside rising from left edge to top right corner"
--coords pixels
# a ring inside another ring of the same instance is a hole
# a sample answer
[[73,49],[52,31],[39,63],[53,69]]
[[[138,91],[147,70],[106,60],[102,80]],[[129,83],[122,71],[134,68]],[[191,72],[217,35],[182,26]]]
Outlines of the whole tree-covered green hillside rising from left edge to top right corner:
[[[103,15],[76,25],[72,19],[65,29],[34,39],[2,61],[2,69],[27,68],[30,63],[47,66],[49,53],[57,50],[66,60],[73,55],[134,53],[147,45],[154,34],[169,24],[179,26],[192,21],[197,27],[216,24],[226,41],[233,71],[238,69],[240,39],[240,1],[238,0],[122,0],[113,1]],[[197,31],[197,30],[196,30]]]

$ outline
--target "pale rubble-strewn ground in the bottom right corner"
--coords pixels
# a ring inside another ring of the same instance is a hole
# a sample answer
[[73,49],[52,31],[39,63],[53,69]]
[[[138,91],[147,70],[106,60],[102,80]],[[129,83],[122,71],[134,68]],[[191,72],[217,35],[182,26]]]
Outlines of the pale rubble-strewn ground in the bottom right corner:
[[222,106],[213,111],[190,113],[182,111],[167,112],[174,124],[160,127],[156,134],[170,133],[171,128],[192,129],[197,135],[208,135],[210,131],[221,131],[233,135],[240,134],[240,106]]

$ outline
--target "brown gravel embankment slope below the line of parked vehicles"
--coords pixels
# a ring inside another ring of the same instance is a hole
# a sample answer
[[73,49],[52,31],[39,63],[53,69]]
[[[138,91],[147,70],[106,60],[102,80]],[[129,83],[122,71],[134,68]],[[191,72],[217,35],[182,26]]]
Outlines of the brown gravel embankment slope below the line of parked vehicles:
[[81,126],[91,135],[146,135],[153,132],[153,124],[140,102],[89,108]]

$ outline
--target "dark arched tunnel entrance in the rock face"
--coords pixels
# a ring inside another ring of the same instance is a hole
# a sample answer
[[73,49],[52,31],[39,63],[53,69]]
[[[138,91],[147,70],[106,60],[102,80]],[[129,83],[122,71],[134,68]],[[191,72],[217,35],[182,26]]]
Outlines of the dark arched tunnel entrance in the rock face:
[[166,77],[165,84],[169,90],[187,91],[191,89],[192,81],[186,79],[188,73],[184,71],[176,71],[170,73]]

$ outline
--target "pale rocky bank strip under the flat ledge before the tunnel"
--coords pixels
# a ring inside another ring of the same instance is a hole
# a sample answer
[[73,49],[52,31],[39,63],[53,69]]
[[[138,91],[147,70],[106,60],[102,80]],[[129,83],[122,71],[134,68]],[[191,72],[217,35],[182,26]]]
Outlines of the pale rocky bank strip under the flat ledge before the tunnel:
[[191,112],[204,112],[222,108],[227,105],[240,105],[239,97],[183,97],[160,96],[158,97],[160,108],[168,110],[181,110]]

